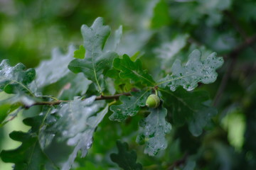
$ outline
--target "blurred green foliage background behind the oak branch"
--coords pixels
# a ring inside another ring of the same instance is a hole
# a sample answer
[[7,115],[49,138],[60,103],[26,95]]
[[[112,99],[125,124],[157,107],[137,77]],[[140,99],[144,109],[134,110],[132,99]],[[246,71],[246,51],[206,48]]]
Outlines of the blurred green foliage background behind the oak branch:
[[[123,26],[119,54],[139,55],[155,77],[161,74],[154,69],[156,64],[168,72],[176,58],[186,61],[196,48],[204,57],[210,52],[223,56],[218,80],[200,86],[218,108],[214,126],[201,137],[191,136],[183,127],[173,130],[168,159],[174,162],[189,152],[201,155],[199,169],[256,169],[256,1],[0,0],[0,61],[37,67],[50,58],[54,47],[66,52],[70,44],[81,45],[80,27],[90,26],[98,16],[112,30]],[[19,145],[8,134],[29,129],[21,120],[20,114],[0,128],[0,149]],[[107,146],[92,150],[104,153]],[[138,159],[149,164],[145,157],[139,154]],[[156,158],[156,162],[168,160]],[[11,169],[11,164],[0,160],[0,169]]]

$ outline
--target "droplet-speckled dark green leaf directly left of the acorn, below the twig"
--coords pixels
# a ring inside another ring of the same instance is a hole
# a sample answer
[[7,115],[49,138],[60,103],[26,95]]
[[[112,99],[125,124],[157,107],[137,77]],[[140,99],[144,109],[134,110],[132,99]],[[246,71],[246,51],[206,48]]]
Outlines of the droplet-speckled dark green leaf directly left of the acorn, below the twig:
[[110,106],[110,120],[124,121],[128,116],[134,116],[139,112],[140,107],[146,106],[146,98],[150,91],[132,92],[132,96],[120,96],[121,105]]

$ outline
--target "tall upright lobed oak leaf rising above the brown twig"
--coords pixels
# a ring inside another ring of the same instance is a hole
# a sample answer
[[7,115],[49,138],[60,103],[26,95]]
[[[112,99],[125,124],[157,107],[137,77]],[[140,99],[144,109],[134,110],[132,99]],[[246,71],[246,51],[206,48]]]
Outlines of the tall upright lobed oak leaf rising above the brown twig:
[[110,27],[103,25],[102,18],[97,18],[90,28],[83,25],[81,30],[86,49],[85,59],[73,60],[68,68],[74,73],[83,72],[95,84],[97,91],[102,93],[105,89],[103,72],[112,67],[112,60],[118,56],[115,52],[103,50],[110,35]]

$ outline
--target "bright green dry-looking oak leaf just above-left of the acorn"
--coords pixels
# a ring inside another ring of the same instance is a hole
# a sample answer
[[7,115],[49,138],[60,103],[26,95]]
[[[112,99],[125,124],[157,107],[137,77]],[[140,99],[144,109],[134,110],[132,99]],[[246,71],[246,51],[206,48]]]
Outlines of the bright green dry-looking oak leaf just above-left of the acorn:
[[151,75],[142,69],[141,60],[132,62],[128,55],[123,55],[122,59],[114,59],[113,66],[114,69],[120,70],[119,77],[122,79],[132,79],[135,83],[142,82],[147,86],[155,85]]

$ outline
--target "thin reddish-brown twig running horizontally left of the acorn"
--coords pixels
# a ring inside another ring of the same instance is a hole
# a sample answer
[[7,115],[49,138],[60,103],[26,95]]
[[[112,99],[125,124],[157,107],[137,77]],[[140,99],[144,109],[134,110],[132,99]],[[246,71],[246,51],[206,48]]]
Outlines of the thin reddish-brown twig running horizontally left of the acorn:
[[[122,93],[122,94],[115,94],[115,95],[112,95],[112,96],[97,96],[95,98],[95,101],[100,101],[100,100],[110,100],[110,99],[118,99],[119,96],[131,96],[131,94],[128,92],[128,93]],[[86,100],[87,98],[83,99],[83,100]],[[50,105],[50,106],[53,106],[53,105],[59,105],[60,103],[65,103],[65,102],[70,102],[70,101],[38,101],[36,103],[33,103],[32,105],[30,106],[25,106],[25,108],[31,108],[32,106],[38,106],[38,105]]]

